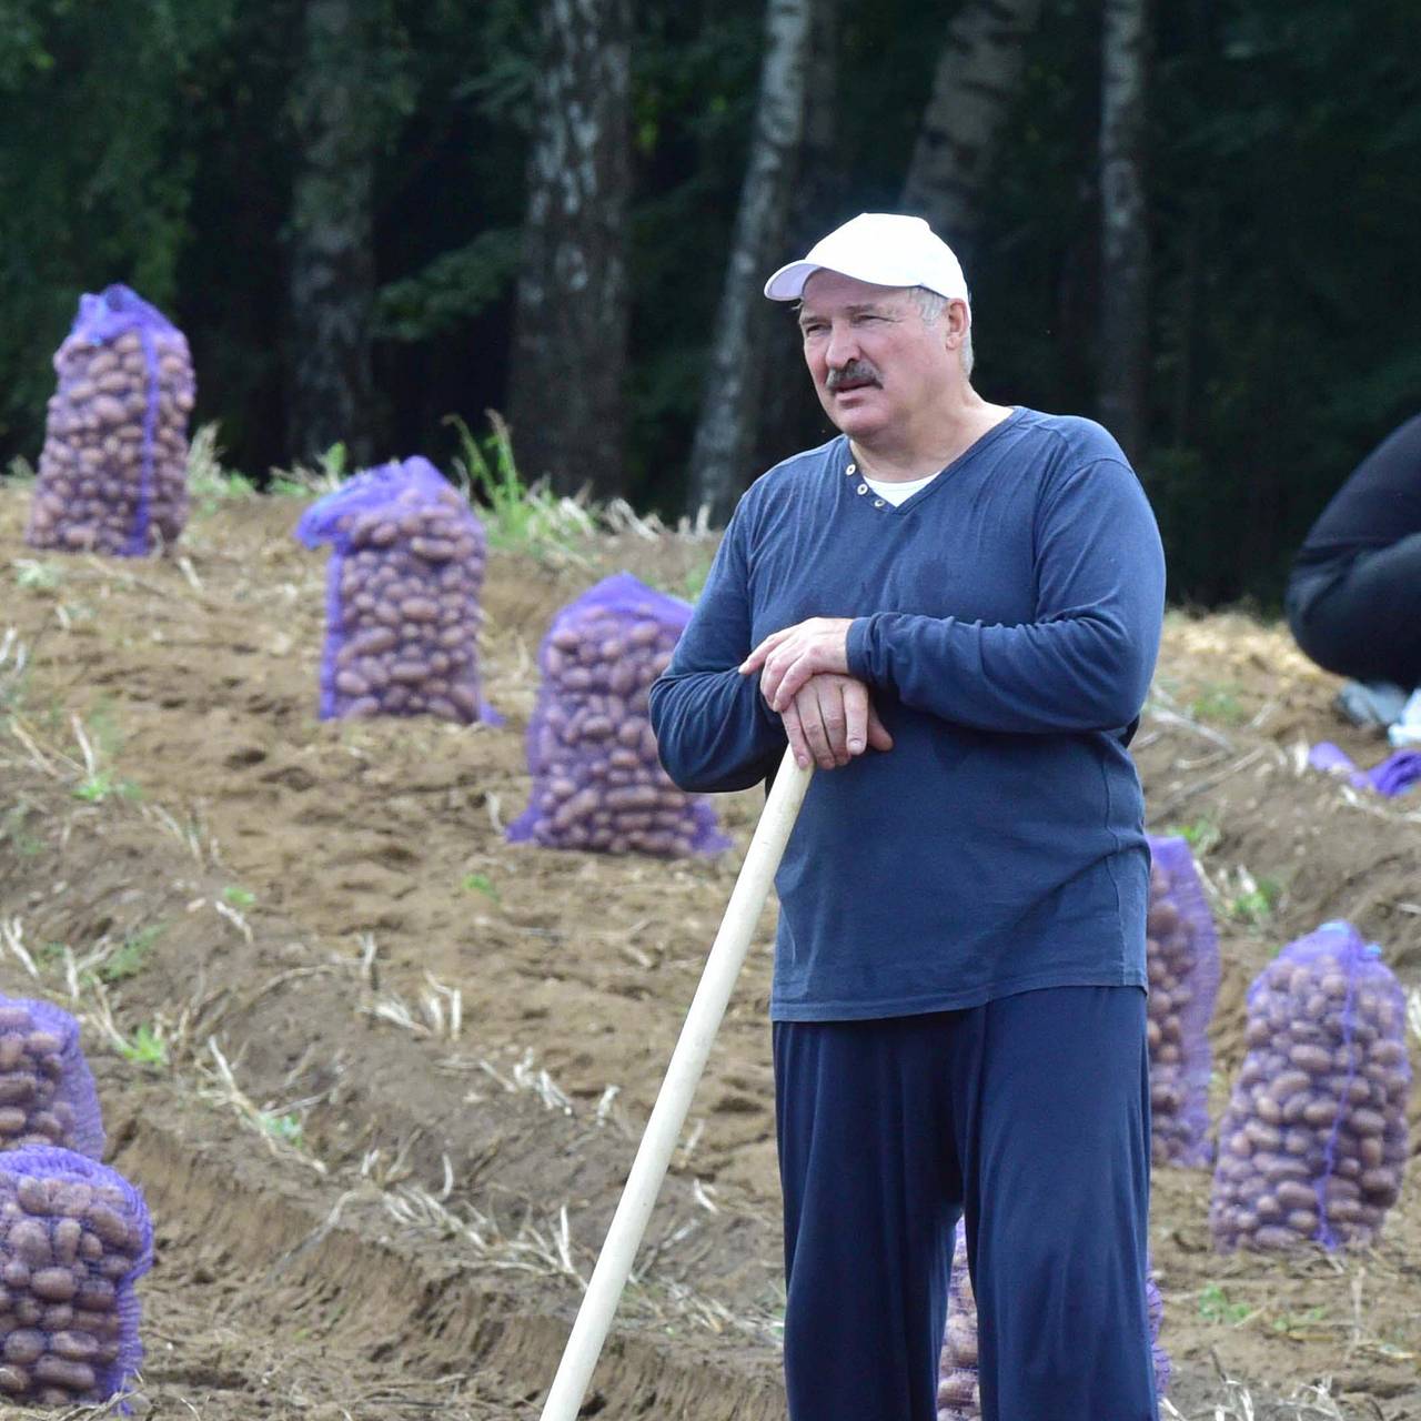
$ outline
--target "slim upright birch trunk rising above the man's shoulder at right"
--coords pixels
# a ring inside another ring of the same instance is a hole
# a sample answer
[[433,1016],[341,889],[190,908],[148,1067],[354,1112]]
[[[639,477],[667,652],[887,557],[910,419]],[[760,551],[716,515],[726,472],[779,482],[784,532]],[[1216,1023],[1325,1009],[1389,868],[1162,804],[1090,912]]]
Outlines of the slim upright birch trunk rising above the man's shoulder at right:
[[1150,360],[1145,6],[1106,0],[1101,43],[1100,419],[1130,459],[1144,450]]

